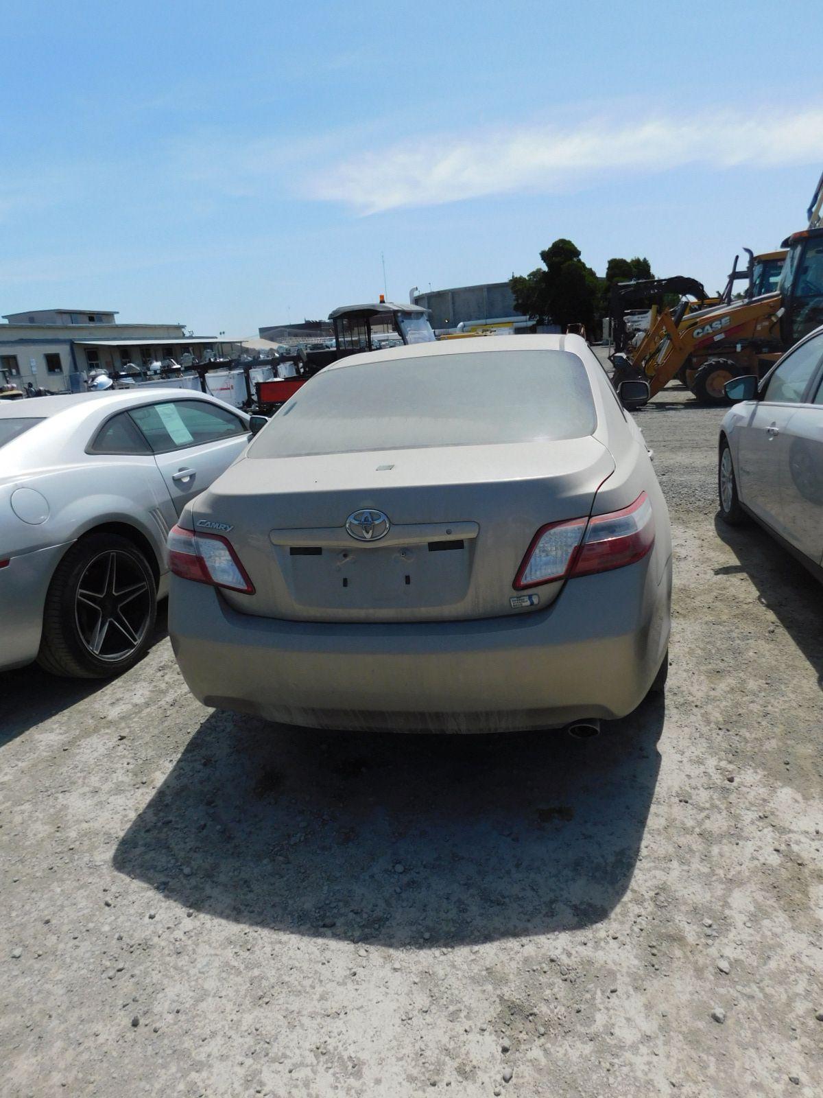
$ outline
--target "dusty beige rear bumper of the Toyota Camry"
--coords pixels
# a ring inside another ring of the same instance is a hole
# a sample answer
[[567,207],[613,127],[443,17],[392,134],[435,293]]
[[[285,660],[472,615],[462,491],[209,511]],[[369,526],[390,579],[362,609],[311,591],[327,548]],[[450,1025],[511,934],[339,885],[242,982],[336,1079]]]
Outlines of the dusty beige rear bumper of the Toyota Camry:
[[315,728],[503,731],[631,713],[668,645],[672,562],[574,580],[521,617],[408,625],[238,614],[171,576],[169,634],[203,704]]

